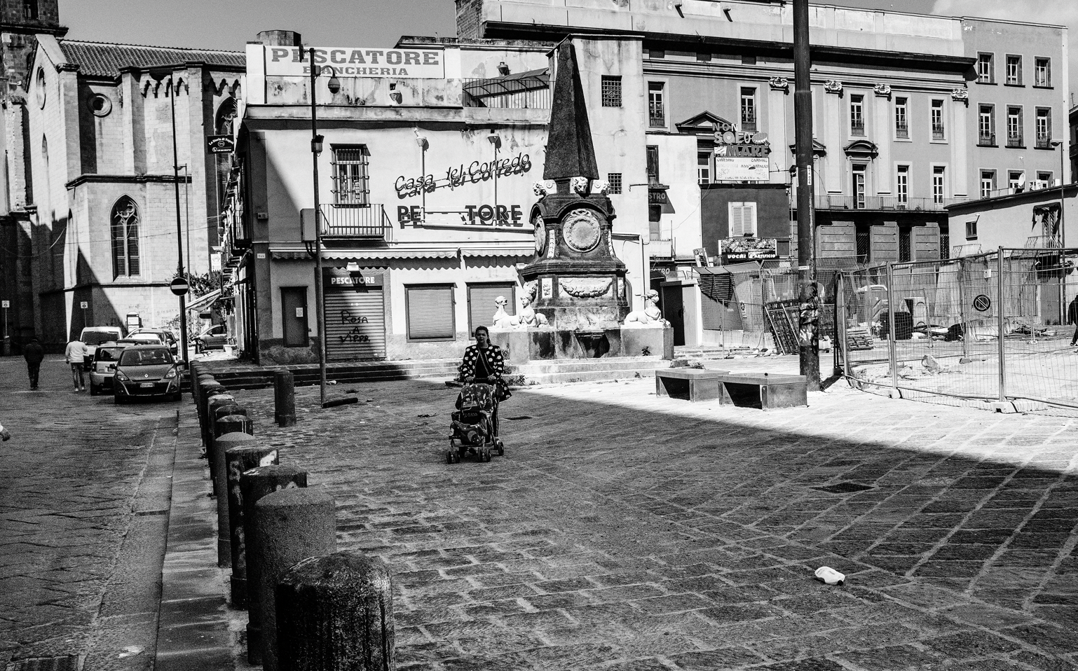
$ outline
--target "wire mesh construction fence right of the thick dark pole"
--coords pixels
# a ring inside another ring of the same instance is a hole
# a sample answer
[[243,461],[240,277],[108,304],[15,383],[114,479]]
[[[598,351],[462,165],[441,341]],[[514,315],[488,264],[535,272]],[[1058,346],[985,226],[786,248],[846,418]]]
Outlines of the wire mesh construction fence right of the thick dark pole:
[[1076,256],[1074,249],[1000,249],[839,271],[835,368],[909,397],[1078,409],[1066,280]]

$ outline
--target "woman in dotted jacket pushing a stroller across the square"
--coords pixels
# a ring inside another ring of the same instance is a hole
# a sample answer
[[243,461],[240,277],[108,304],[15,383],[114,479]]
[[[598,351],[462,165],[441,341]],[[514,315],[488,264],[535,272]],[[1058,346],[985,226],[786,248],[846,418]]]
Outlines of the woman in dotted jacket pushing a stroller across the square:
[[[503,453],[498,439],[498,404],[508,399],[509,385],[501,348],[490,343],[486,326],[475,327],[475,345],[465,350],[458,368],[465,386],[457,396],[457,411],[453,414],[453,436],[450,439],[450,463],[459,461],[467,452],[489,461],[490,449]],[[459,444],[459,445],[458,445]]]

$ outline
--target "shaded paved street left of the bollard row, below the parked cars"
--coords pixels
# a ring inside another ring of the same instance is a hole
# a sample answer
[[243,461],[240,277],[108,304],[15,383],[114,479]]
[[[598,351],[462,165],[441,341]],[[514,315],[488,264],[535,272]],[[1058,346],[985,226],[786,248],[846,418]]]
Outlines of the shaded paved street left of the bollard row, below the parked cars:
[[61,358],[36,392],[20,358],[0,359],[0,669],[150,668],[176,405],[116,408],[70,385]]

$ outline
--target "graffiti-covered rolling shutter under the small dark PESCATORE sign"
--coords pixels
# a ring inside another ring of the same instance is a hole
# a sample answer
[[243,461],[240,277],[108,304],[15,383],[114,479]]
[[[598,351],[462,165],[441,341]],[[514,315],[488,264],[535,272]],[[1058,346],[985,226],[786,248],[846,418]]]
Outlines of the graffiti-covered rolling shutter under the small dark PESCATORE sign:
[[385,359],[381,291],[326,292],[326,359]]

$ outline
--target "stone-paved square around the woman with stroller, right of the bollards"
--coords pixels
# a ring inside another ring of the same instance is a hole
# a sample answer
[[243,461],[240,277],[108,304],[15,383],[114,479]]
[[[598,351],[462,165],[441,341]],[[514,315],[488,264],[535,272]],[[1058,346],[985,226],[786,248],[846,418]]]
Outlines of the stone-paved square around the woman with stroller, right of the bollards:
[[237,397],[392,567],[401,669],[1078,668],[1074,420],[641,379],[515,391],[507,456],[446,465],[455,390],[355,391],[289,429]]

